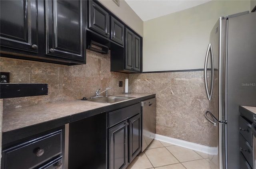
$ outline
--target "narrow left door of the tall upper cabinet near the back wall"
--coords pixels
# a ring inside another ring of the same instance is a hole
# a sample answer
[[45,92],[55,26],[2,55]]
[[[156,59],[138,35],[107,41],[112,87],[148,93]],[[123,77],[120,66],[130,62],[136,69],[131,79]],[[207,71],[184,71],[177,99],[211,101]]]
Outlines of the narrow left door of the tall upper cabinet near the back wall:
[[126,37],[125,37],[125,69],[133,70],[134,64],[134,33],[129,29],[126,29]]

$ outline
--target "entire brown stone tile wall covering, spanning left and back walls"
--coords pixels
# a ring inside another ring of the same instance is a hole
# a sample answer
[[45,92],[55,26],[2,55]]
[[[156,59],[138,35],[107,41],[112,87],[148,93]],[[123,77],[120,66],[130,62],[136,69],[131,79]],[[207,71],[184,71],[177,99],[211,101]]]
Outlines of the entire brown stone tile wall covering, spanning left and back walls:
[[[47,104],[94,96],[98,88],[109,94],[124,92],[129,77],[131,92],[156,93],[156,134],[211,146],[210,123],[203,71],[136,73],[110,72],[110,52],[86,51],[86,65],[57,65],[0,58],[0,71],[10,72],[10,83],[48,83],[48,95],[3,99],[3,109]],[[123,87],[119,87],[123,81]],[[200,136],[200,137],[199,137]]]

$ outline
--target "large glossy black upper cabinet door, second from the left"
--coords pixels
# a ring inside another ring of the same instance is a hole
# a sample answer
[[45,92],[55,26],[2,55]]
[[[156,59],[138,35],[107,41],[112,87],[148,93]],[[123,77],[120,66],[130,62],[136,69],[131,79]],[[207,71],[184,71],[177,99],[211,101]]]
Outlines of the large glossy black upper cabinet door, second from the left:
[[86,1],[46,0],[46,54],[84,61]]

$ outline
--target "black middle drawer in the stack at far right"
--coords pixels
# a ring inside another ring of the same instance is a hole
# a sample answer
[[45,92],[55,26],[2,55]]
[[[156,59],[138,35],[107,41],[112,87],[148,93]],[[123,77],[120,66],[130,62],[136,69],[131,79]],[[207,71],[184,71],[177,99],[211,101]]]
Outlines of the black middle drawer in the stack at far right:
[[240,151],[244,155],[246,161],[248,161],[249,165],[253,166],[253,150],[249,143],[244,139],[244,137],[239,134],[239,145]]

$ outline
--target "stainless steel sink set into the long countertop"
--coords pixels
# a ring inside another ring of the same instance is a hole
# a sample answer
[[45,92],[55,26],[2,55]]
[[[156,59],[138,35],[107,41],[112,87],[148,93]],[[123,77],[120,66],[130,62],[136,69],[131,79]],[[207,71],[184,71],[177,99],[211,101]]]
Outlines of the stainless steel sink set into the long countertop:
[[125,97],[125,96],[104,96],[98,98],[88,98],[87,101],[90,102],[100,102],[100,103],[115,103],[123,100],[128,100],[134,97]]

